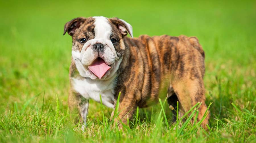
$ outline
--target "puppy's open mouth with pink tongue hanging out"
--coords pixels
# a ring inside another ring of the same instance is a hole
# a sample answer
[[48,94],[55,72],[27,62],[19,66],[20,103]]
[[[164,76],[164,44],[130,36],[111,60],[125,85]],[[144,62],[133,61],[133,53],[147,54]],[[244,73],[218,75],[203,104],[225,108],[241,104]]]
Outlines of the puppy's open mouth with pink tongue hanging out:
[[102,58],[96,58],[88,68],[94,75],[101,79],[111,67]]

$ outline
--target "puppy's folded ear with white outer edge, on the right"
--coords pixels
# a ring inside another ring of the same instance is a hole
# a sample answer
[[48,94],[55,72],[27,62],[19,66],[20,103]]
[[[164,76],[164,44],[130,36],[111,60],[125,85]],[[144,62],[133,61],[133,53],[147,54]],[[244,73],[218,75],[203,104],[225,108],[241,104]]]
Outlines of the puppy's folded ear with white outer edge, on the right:
[[131,38],[133,38],[133,27],[129,23],[119,18],[110,18],[110,21],[119,29],[123,36],[126,36],[128,31]]

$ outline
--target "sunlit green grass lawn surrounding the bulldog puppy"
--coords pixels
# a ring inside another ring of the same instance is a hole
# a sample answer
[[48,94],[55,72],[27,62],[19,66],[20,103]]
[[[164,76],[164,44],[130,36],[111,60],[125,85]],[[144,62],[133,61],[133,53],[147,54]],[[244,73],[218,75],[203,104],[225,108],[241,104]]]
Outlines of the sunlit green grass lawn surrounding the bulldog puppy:
[[[101,15],[129,22],[135,37],[199,38],[212,102],[208,131],[173,125],[164,99],[138,109],[121,131],[112,126],[112,110],[94,101],[85,132],[71,122],[72,42],[63,27]],[[0,16],[0,142],[256,142],[255,1],[1,1]]]

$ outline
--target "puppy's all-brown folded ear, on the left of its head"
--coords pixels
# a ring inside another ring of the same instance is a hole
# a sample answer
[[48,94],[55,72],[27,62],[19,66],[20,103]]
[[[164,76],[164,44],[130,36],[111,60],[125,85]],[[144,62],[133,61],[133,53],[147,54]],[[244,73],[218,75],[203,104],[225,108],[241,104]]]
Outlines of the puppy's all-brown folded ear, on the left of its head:
[[84,23],[85,20],[86,18],[79,17],[79,18],[74,18],[71,21],[67,22],[64,26],[63,35],[65,35],[66,32],[68,32],[70,36],[73,36],[73,34],[75,33],[75,30],[78,29]]

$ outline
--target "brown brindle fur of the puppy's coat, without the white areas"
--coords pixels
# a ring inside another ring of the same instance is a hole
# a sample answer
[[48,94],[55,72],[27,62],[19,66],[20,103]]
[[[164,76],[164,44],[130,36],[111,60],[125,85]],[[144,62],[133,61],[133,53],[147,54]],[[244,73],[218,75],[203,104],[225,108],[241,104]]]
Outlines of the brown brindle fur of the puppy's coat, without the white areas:
[[[115,99],[121,92],[119,119],[126,123],[127,118],[132,118],[137,107],[148,107],[152,103],[157,103],[159,93],[162,92],[163,87],[168,86],[166,93],[169,92],[171,95],[168,103],[175,107],[176,101],[179,101],[183,113],[197,102],[202,102],[197,119],[201,120],[207,106],[203,83],[205,54],[198,39],[183,35],[179,37],[141,35],[138,38],[128,38],[118,31],[116,20],[116,18],[109,19],[113,33],[119,38],[117,45],[114,45],[115,49],[120,57],[123,56],[115,86]],[[87,18],[82,26],[72,33],[73,44],[77,44],[74,41],[80,39],[80,31],[87,31],[86,34],[90,34],[88,37],[93,38],[93,22],[92,18]],[[77,47],[79,50],[82,49],[82,45]],[[79,75],[73,59],[69,76],[83,78]],[[76,93],[71,85],[69,108],[71,110],[78,108],[81,111],[79,106],[83,101],[81,98],[82,96]],[[209,116],[208,114],[202,124],[205,128]]]

